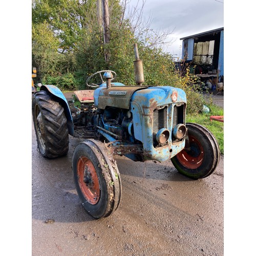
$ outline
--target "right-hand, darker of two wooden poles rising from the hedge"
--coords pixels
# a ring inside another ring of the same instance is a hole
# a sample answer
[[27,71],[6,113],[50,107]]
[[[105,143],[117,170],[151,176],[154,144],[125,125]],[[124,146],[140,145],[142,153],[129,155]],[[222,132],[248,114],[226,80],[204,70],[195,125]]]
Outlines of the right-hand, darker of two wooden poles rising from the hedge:
[[[104,45],[110,42],[110,15],[109,15],[109,0],[102,0],[102,16],[103,16],[103,34]],[[109,63],[110,52],[105,50],[105,61]]]

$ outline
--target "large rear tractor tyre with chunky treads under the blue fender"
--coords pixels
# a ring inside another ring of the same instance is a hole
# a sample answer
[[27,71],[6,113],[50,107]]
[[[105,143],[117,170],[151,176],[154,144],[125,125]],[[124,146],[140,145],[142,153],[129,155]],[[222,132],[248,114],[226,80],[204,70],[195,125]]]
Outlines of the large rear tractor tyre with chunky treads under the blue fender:
[[47,91],[33,95],[32,116],[38,150],[42,156],[56,158],[69,151],[69,130],[63,107]]

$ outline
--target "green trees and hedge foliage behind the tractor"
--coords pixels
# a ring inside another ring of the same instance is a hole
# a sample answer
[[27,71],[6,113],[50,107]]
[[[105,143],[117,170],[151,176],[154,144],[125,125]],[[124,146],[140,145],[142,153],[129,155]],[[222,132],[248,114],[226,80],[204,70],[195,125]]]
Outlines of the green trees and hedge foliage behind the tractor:
[[[189,67],[176,71],[172,56],[161,48],[145,47],[136,39],[131,22],[123,17],[118,0],[110,0],[110,42],[104,44],[96,0],[33,0],[32,59],[38,80],[62,90],[86,89],[86,79],[99,70],[114,70],[116,81],[134,85],[134,49],[143,60],[145,85],[173,86],[187,95],[187,112],[199,113],[204,98]],[[150,40],[146,38],[145,40]],[[106,63],[104,52],[110,53]]]

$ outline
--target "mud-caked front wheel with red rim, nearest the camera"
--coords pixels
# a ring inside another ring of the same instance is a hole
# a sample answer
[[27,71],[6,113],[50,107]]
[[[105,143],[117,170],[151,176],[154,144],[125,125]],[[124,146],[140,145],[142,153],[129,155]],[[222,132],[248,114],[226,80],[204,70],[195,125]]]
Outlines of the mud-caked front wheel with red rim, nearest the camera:
[[94,139],[80,142],[72,159],[73,177],[82,206],[96,219],[108,217],[121,198],[121,179],[112,154]]

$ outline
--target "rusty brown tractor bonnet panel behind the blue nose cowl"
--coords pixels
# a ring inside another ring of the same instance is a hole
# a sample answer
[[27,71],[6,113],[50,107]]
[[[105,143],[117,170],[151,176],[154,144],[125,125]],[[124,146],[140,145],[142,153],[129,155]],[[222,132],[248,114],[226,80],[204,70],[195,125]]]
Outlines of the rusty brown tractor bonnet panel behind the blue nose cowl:
[[98,88],[94,92],[94,104],[99,109],[106,106],[130,109],[130,101],[134,92],[148,88],[147,86],[112,86],[109,89]]

